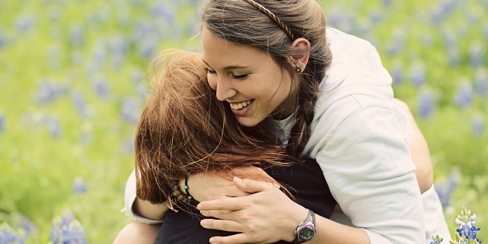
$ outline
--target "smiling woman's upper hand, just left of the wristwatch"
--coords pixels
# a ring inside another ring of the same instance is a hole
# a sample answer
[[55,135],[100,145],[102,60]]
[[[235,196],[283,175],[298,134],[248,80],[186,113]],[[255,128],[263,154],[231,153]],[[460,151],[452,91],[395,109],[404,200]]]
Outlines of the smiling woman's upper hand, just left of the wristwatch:
[[296,227],[307,217],[306,208],[289,199],[274,183],[234,177],[234,185],[252,194],[203,201],[197,206],[202,215],[220,219],[202,220],[206,229],[240,232],[214,236],[210,243],[293,241]]

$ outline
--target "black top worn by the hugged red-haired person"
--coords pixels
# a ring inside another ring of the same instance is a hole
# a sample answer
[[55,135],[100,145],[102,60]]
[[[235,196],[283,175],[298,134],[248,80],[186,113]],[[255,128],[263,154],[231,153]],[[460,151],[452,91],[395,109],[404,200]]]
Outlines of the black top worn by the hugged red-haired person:
[[[266,172],[287,187],[298,204],[312,209],[317,215],[330,218],[336,201],[330,194],[326,179],[315,160],[296,162],[286,167],[274,166],[266,169]],[[208,217],[200,215],[195,208],[190,209],[190,213],[167,211],[155,243],[207,244],[208,239],[212,236],[236,234],[229,231],[204,229],[200,225],[200,220],[204,218]],[[279,241],[277,243],[289,242]]]

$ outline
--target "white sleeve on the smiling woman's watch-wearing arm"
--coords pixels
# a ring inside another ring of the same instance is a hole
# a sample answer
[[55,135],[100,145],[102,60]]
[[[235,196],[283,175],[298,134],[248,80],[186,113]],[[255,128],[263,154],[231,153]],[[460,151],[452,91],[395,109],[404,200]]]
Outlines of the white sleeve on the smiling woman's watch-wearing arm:
[[[424,243],[422,199],[415,166],[394,112],[367,96],[349,96],[312,128],[315,158],[330,192],[372,244]],[[307,151],[308,150],[308,151]]]

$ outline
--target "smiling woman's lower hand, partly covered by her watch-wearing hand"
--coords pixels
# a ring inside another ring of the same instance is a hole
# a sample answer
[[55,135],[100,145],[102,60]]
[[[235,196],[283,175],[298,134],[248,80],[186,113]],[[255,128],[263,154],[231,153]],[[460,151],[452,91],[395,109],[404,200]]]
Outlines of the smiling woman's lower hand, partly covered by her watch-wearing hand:
[[[233,175],[240,177],[253,176],[253,178],[263,178],[276,182],[259,167],[241,167],[233,169],[228,173],[227,177],[223,173],[216,174],[212,172],[192,174],[188,178],[188,192],[195,200],[200,202],[249,195],[248,192],[244,192],[234,185],[234,182],[231,180]],[[182,179],[180,181],[180,189],[182,192],[185,192],[184,185],[185,180]]]

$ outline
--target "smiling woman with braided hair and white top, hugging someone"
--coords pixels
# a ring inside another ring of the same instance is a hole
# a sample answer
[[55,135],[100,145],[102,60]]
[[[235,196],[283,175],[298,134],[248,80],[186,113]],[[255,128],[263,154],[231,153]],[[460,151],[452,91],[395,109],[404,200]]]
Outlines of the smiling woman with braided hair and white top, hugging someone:
[[[277,195],[273,183],[191,174],[187,186],[209,217],[201,225],[238,233],[211,243],[449,238],[430,161],[416,156],[418,128],[393,99],[370,43],[326,27],[314,0],[206,1],[201,37],[216,98],[240,125],[273,132],[291,155],[317,160],[343,211],[334,222]],[[151,217],[137,201],[134,209]]]

